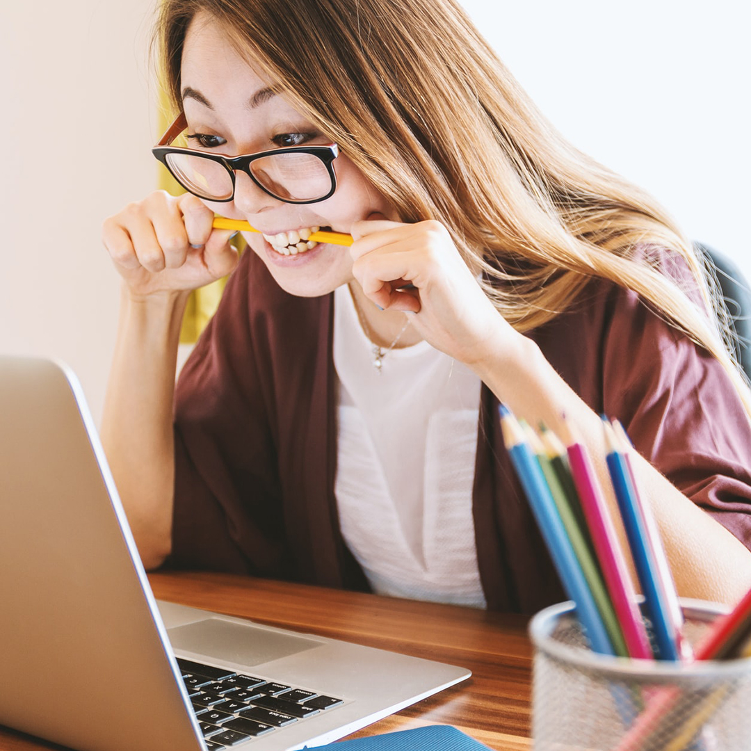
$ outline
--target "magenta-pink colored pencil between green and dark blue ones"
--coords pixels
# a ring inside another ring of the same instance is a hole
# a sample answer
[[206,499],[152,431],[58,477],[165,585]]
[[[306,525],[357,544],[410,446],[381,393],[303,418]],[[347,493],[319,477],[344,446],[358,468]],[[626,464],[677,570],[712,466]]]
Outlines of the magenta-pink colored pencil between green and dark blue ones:
[[566,443],[572,477],[590,528],[605,584],[613,601],[621,629],[623,629],[623,638],[629,655],[635,658],[653,659],[647,629],[644,627],[641,611],[636,601],[634,585],[605,504],[602,487],[597,481],[589,454],[584,445],[575,440],[569,425],[566,425],[566,433],[567,435],[561,435],[561,438]]

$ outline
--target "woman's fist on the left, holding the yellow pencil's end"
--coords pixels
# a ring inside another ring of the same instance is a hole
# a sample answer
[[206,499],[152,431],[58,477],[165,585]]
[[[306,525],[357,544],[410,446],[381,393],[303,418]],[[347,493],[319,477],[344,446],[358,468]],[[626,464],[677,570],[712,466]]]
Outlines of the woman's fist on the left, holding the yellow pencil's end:
[[237,266],[231,230],[212,227],[214,213],[199,198],[156,191],[110,216],[102,240],[133,297],[189,291]]

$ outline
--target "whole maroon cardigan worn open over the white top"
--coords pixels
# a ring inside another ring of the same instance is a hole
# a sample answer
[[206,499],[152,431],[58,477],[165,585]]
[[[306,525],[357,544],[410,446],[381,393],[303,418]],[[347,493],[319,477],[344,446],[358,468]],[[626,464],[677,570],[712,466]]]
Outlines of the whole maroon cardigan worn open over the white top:
[[[185,364],[176,391],[170,565],[367,589],[339,529],[333,294],[294,297],[252,252]],[[591,283],[531,334],[596,412],[751,547],[751,429],[722,366],[638,297]],[[565,599],[481,392],[473,514],[493,610]],[[377,520],[374,520],[377,523]]]

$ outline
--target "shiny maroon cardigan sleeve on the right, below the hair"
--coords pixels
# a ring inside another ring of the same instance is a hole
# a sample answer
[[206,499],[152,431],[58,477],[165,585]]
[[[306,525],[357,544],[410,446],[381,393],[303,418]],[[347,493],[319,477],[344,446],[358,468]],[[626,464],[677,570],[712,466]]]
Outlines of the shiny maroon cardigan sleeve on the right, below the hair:
[[[683,261],[653,254],[699,302]],[[591,409],[618,418],[642,456],[751,548],[751,422],[718,360],[602,280],[532,338]]]

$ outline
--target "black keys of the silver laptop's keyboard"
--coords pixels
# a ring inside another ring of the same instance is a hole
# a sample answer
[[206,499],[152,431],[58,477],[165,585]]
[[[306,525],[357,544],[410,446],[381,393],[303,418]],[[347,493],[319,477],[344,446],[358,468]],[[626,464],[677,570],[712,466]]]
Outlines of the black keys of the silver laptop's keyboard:
[[223,749],[344,704],[333,696],[178,657],[207,748]]

